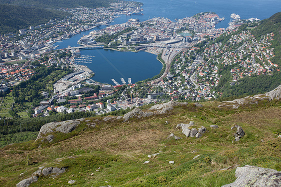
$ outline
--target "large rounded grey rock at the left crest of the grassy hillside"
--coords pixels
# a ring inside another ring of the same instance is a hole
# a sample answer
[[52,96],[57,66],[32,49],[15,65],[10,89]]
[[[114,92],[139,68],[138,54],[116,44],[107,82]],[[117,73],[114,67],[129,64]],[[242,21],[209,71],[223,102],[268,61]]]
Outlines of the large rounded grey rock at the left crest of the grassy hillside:
[[[75,127],[80,124],[83,119],[73,119],[67,121],[60,121],[60,122],[49,122],[44,124],[39,131],[39,134],[36,138],[42,138],[45,134],[50,132],[62,132],[62,133],[69,133],[75,129]],[[48,135],[47,140],[50,142],[53,138],[53,135]]]

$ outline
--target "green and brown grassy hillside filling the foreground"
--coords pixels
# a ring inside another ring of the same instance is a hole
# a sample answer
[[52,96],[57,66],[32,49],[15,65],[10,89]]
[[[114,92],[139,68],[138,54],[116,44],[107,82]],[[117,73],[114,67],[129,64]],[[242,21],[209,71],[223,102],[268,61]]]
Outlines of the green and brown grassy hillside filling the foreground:
[[[221,186],[235,180],[236,166],[281,170],[280,101],[263,100],[238,109],[217,107],[222,103],[216,101],[202,104],[126,122],[87,118],[69,134],[55,133],[51,143],[8,145],[0,150],[0,186],[14,186],[39,166],[67,169],[54,179],[39,176],[30,187],[69,186],[68,180],[76,180],[71,186]],[[189,121],[207,132],[200,138],[185,137],[175,126]],[[234,123],[245,131],[237,142],[230,130]],[[182,139],[167,138],[170,133]],[[154,153],[159,154],[147,157]],[[143,163],[146,160],[149,163]]]

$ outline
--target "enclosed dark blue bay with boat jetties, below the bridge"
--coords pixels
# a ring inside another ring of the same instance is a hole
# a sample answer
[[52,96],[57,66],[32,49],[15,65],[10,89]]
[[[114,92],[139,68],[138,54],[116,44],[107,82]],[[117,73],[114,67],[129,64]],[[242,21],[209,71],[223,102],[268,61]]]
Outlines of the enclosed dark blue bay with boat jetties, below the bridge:
[[87,65],[95,72],[93,80],[115,85],[111,78],[122,84],[120,78],[128,83],[137,82],[158,74],[162,64],[156,60],[156,55],[140,52],[120,52],[110,49],[81,50],[81,55],[94,55],[92,63],[79,63]]

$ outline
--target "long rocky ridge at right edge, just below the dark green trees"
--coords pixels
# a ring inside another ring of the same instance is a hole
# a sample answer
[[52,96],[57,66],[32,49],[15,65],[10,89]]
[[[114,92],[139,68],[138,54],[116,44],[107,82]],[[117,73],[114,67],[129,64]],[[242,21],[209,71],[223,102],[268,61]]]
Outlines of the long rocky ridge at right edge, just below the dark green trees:
[[258,103],[260,100],[269,100],[272,99],[281,99],[281,85],[276,87],[275,89],[266,92],[264,94],[257,94],[254,96],[246,96],[244,98],[238,98],[234,100],[224,101],[224,104],[218,105],[218,107],[232,107],[232,108],[238,108],[240,105],[246,104],[246,103]]

